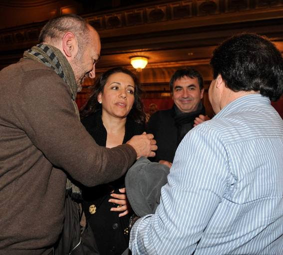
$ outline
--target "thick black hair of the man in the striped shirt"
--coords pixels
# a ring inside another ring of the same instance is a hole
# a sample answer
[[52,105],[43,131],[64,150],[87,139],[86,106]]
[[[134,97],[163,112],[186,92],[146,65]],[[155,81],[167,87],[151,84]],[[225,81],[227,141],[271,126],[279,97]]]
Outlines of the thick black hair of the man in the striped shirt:
[[271,100],[283,93],[283,58],[264,36],[242,33],[225,40],[213,52],[213,78],[221,74],[231,90],[259,91]]

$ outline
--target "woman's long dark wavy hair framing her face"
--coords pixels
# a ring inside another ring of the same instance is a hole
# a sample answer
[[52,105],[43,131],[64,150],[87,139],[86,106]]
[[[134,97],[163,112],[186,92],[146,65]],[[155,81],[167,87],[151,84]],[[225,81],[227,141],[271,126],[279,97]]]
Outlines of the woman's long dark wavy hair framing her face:
[[134,119],[134,121],[136,121],[137,123],[144,123],[145,122],[145,112],[144,112],[144,107],[143,107],[143,103],[141,100],[141,85],[138,81],[137,76],[131,72],[130,70],[124,68],[124,67],[114,67],[111,68],[105,72],[103,72],[96,80],[95,80],[95,84],[93,86],[92,92],[91,92],[91,96],[89,97],[87,103],[85,104],[85,106],[83,106],[81,112],[80,112],[80,116],[81,118],[84,118],[88,115],[90,115],[91,113],[101,109],[101,104],[98,102],[97,100],[97,96],[99,95],[99,93],[103,93],[103,89],[104,86],[109,78],[109,76],[111,74],[114,73],[125,73],[128,74],[129,76],[132,77],[134,84],[135,84],[135,92],[134,92],[134,104],[132,106],[132,109],[130,110],[128,116],[132,117]]

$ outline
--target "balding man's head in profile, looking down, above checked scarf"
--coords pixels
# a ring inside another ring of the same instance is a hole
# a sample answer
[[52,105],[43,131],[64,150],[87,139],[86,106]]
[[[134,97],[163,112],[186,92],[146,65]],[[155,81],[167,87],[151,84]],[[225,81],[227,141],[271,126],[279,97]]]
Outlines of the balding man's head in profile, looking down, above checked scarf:
[[100,38],[82,17],[67,14],[50,19],[40,32],[39,42],[57,47],[64,54],[72,67],[78,91],[85,77],[95,77]]

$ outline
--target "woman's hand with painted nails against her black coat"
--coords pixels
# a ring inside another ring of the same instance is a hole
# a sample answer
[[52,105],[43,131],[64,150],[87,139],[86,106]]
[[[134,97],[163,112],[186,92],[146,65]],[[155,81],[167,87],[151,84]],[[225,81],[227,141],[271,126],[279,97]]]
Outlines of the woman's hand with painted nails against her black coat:
[[123,194],[116,194],[112,193],[111,196],[116,198],[110,198],[108,201],[111,203],[117,203],[119,204],[117,207],[112,207],[111,211],[123,211],[122,213],[119,213],[119,217],[127,215],[131,210],[131,205],[129,203],[129,200],[126,195],[126,188],[120,188],[119,191]]

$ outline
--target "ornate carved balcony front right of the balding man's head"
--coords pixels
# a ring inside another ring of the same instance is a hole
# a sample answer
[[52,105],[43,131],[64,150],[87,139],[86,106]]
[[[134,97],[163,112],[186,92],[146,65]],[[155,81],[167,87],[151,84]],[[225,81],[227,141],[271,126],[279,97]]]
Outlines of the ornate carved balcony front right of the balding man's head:
[[[184,0],[151,6],[143,6],[115,12],[101,12],[85,15],[86,20],[97,30],[116,29],[168,21],[189,20],[197,17],[211,17],[223,14],[248,14],[251,12],[278,12],[283,16],[282,0]],[[241,13],[239,13],[241,12]],[[228,15],[226,15],[228,16]],[[258,18],[265,18],[266,15]],[[189,25],[188,25],[189,26]],[[166,29],[166,27],[165,27]]]

